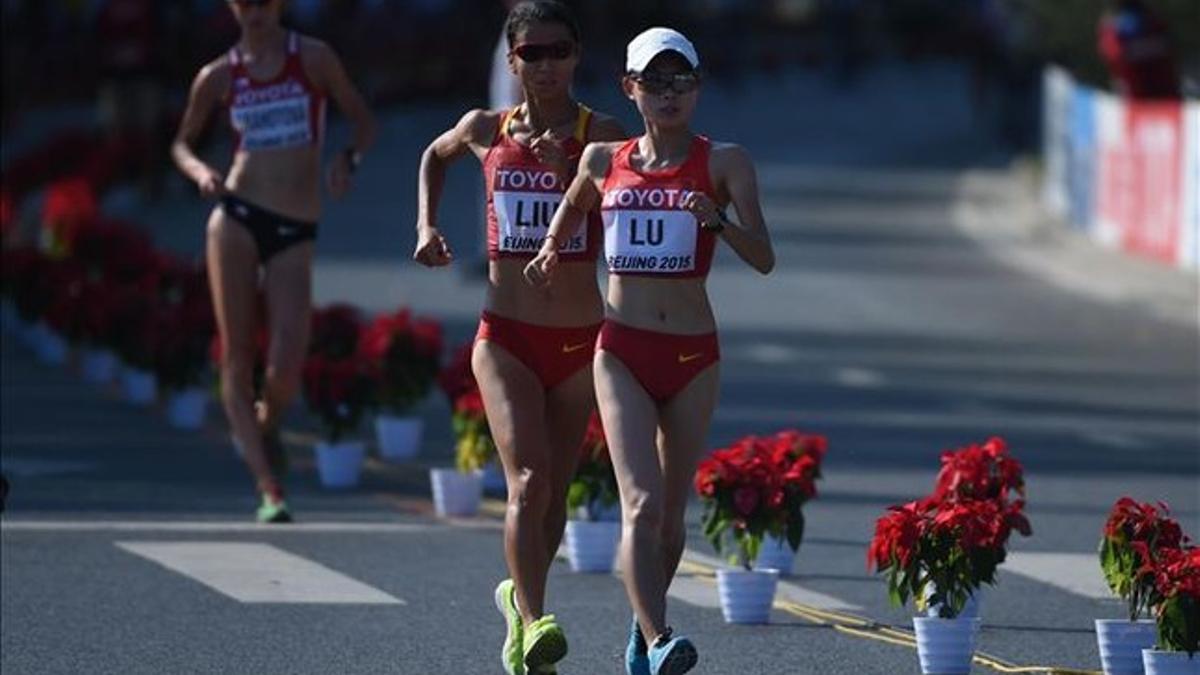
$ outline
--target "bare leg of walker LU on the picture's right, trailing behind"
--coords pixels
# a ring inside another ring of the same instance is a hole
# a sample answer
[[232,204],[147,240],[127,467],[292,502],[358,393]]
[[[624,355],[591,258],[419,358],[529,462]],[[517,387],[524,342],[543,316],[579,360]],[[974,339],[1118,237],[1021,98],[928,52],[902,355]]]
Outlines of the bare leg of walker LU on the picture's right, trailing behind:
[[713,419],[720,384],[719,364],[701,372],[659,408],[659,464],[662,466],[662,573],[665,589],[671,586],[683,556],[688,530],[684,515],[692,478],[708,447],[708,425]]

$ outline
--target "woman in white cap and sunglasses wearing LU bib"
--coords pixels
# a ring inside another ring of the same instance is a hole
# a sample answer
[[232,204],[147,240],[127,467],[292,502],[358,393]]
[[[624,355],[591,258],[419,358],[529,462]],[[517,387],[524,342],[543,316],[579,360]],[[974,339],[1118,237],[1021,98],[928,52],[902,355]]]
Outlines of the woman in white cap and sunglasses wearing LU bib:
[[[632,675],[677,675],[697,659],[667,626],[666,593],[716,405],[716,322],[704,289],[716,241],[762,274],[775,264],[750,156],[690,129],[698,67],[696,49],[674,30],[653,28],[629,43],[623,88],[646,133],[588,145],[548,235],[570,238],[580,214],[600,207],[610,280],[595,384],[620,488]],[[730,204],[737,222],[725,216]],[[542,246],[526,268],[530,283],[557,285],[560,261]]]

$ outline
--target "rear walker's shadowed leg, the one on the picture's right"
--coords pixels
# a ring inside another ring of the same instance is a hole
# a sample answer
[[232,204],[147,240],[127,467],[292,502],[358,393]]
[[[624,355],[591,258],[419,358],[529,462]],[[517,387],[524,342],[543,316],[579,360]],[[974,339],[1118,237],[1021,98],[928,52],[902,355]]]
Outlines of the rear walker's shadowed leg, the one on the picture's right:
[[312,313],[313,244],[289,246],[266,263],[266,374],[258,420],[263,431],[275,429],[300,390]]

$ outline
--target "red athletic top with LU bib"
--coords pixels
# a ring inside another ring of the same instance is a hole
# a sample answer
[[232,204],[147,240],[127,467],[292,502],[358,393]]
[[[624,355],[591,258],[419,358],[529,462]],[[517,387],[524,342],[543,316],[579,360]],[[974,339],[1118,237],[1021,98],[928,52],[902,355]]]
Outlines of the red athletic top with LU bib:
[[610,274],[703,277],[713,265],[716,235],[702,229],[696,216],[680,205],[698,190],[716,199],[708,175],[713,143],[692,139],[688,159],[665,171],[637,171],[629,155],[637,138],[626,141],[612,156],[604,179],[600,213],[604,216],[604,252]]

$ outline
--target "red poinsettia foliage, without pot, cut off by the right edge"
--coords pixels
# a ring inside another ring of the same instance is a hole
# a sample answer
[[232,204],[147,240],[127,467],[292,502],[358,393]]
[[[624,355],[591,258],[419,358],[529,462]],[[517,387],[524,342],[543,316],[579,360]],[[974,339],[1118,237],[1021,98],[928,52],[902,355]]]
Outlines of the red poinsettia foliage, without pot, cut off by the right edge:
[[1138,574],[1151,579],[1148,605],[1158,628],[1156,646],[1163,651],[1200,651],[1200,546],[1152,549],[1147,542],[1133,544],[1141,567]]

